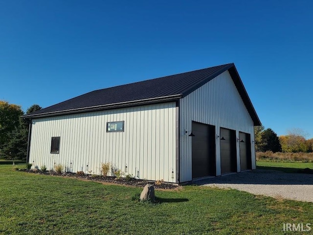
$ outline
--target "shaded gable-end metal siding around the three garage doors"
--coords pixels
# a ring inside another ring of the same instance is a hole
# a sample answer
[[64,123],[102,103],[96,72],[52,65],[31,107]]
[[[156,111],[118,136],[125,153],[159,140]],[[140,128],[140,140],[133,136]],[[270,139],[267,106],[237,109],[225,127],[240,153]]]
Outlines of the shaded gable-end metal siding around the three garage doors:
[[[185,130],[192,130],[192,121],[215,125],[251,135],[252,168],[255,169],[254,125],[246,106],[228,71],[218,75],[196,91],[180,100],[180,182],[192,180],[192,137]],[[253,141],[253,142],[252,142]],[[217,175],[221,175],[220,140],[216,140]],[[237,141],[237,168],[240,171],[239,142]]]

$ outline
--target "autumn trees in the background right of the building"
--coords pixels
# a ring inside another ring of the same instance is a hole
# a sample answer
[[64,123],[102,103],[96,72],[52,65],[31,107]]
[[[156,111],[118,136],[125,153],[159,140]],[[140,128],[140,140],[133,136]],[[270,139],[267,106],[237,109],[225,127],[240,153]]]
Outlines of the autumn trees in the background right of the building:
[[278,137],[272,129],[265,129],[262,125],[254,127],[254,134],[257,152],[313,152],[313,139],[306,140],[307,134],[299,128],[288,130],[287,135]]

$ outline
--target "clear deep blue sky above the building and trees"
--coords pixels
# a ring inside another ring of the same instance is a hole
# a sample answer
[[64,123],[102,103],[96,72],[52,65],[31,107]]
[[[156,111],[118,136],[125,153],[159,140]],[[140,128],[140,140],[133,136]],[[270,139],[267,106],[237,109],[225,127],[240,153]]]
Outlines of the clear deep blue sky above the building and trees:
[[235,63],[262,124],[313,138],[313,2],[0,0],[0,99],[87,92]]

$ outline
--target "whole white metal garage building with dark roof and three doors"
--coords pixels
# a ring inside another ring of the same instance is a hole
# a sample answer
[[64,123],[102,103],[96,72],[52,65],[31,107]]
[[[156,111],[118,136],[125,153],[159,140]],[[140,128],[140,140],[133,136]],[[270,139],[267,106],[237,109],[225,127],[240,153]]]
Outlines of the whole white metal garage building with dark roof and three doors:
[[175,183],[255,169],[261,124],[234,64],[93,91],[24,118],[32,167],[101,174],[110,162]]

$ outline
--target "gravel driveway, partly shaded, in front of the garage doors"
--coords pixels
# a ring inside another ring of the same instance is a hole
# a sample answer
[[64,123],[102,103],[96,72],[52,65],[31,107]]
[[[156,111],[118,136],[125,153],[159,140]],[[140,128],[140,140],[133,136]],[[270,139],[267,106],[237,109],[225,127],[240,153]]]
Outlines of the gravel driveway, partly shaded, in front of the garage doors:
[[234,188],[255,195],[313,202],[313,175],[252,170],[196,181],[197,185]]

